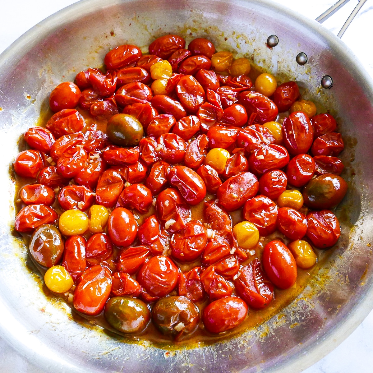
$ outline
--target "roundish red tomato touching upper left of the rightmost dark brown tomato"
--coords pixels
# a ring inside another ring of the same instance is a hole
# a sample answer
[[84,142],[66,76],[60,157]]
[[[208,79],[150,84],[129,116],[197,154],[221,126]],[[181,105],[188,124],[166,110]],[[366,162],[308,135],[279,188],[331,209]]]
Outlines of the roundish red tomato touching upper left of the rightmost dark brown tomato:
[[298,154],[286,167],[286,178],[289,184],[300,188],[307,184],[315,172],[315,162],[308,154]]

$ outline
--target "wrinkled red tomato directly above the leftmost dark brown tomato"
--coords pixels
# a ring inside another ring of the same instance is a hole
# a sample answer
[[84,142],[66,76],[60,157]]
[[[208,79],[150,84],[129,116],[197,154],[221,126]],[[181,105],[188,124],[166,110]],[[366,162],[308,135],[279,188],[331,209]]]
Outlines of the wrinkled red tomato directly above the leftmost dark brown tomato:
[[54,224],[58,219],[56,211],[45,205],[28,205],[16,216],[14,228],[18,232],[32,232],[43,224]]

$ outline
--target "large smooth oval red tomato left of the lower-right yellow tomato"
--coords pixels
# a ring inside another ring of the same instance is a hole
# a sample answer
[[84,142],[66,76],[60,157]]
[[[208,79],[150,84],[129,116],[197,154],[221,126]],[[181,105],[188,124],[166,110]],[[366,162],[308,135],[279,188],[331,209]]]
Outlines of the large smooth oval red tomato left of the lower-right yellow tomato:
[[291,251],[278,239],[264,247],[262,264],[270,281],[280,289],[288,289],[297,280],[297,263]]

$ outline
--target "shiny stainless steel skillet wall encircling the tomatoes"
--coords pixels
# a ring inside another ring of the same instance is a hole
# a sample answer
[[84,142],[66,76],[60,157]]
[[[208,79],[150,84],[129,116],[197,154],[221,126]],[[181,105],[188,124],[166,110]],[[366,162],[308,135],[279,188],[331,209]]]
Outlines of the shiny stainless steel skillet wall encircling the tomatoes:
[[[112,37],[110,31],[116,36]],[[25,250],[13,245],[9,224],[14,213],[7,214],[13,188],[7,167],[17,153],[12,144],[34,124],[53,85],[62,75],[72,79],[88,65],[100,64],[109,46],[127,41],[145,46],[167,32],[192,32],[193,37],[207,35],[214,41],[227,38],[221,48],[252,56],[259,65],[277,70],[279,76],[292,76],[307,87],[311,93],[307,97],[338,113],[345,138],[357,142],[344,155],[346,163],[354,157],[351,164],[356,175],[351,178],[348,196],[353,203],[346,201],[339,211],[347,213],[357,225],[351,238],[349,229],[344,229],[341,247],[322,271],[323,283],[316,276],[311,285],[315,291],[306,290],[286,308],[286,316],[280,320],[275,317],[226,344],[175,354],[123,345],[68,320],[65,312],[46,300],[20,260]],[[272,34],[279,37],[279,44],[270,50],[265,43]],[[295,60],[301,51],[308,56],[304,66]],[[333,78],[331,90],[320,88],[324,75]],[[333,340],[343,339],[344,333],[357,326],[372,308],[371,268],[366,267],[370,263],[366,245],[372,239],[372,85],[344,44],[316,23],[258,1],[83,1],[40,23],[0,56],[0,98],[1,171],[6,185],[3,195],[9,196],[0,202],[4,211],[0,222],[0,325],[6,338],[44,369],[297,372],[325,355],[338,343]],[[324,290],[320,290],[321,285]]]

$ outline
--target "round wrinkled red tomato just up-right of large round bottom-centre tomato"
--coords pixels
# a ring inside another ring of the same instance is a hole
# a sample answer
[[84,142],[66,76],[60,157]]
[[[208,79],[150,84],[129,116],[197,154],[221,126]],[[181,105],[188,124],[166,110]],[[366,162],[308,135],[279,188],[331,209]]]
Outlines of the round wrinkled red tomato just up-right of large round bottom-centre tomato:
[[172,256],[181,262],[197,259],[207,244],[207,232],[202,223],[192,221],[171,239]]

